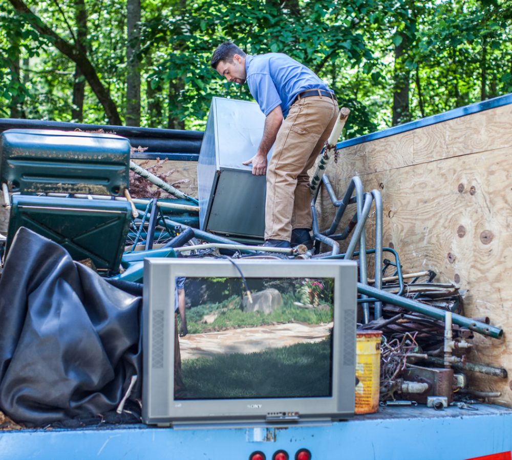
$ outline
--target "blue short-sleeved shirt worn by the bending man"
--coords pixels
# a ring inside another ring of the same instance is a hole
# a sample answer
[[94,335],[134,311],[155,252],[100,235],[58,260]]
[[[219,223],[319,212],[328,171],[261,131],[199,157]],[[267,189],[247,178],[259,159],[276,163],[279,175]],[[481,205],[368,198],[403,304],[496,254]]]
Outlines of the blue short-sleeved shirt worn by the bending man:
[[245,58],[247,84],[265,117],[281,105],[286,117],[297,94],[307,89],[329,90],[308,67],[282,53],[267,53]]

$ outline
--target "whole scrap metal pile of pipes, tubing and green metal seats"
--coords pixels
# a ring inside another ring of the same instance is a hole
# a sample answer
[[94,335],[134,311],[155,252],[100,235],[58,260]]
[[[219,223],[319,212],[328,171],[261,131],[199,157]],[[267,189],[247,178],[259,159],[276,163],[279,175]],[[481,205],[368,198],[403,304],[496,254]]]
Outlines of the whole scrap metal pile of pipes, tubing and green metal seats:
[[[486,392],[485,388],[481,392],[468,389],[465,372],[507,377],[504,369],[471,362],[467,358],[474,347],[470,342],[474,334],[500,339],[503,331],[491,326],[488,318],[465,317],[464,292],[451,283],[436,282],[433,271],[402,272],[398,252],[382,245],[382,197],[378,190],[365,192],[359,177],[353,177],[343,198],[336,197],[324,171],[331,157],[337,155],[335,142],[348,110],[342,109],[340,113],[339,121],[342,123],[333,129],[311,181],[312,249],[304,245],[263,248],[247,245],[243,238],[235,241],[199,229],[199,201],[133,163],[130,146],[127,140],[121,141],[122,138],[103,134],[13,130],[3,134],[4,205],[7,208],[12,206],[6,251],[17,228],[28,226],[61,244],[73,259],[88,260],[92,268],[118,286],[142,282],[146,257],[355,259],[358,261],[359,278],[358,328],[382,332],[382,404],[415,402],[442,408],[452,403],[455,397],[460,399],[461,395],[466,398],[462,404],[467,403],[468,397],[476,401],[500,396]],[[68,142],[70,151],[55,153],[53,150],[41,150],[37,140],[31,141],[32,144],[27,141],[27,135],[47,136],[49,145],[51,142],[55,145]],[[53,141],[53,136],[60,136],[58,142]],[[103,148],[105,145],[110,147],[108,154],[102,156],[105,164],[98,164],[95,156],[99,142]],[[36,156],[48,157],[53,162],[56,158],[62,160],[62,164],[56,165],[65,179],[60,176],[55,179],[56,167],[49,168],[41,161],[32,162],[32,175],[24,174],[19,169],[20,164],[25,165],[19,162],[20,155],[25,155],[29,163]],[[86,161],[94,168],[84,168]],[[105,169],[111,171],[106,179],[103,177]],[[129,169],[176,198],[132,199],[127,193]],[[89,182],[77,182],[76,177],[85,173],[90,176]],[[42,177],[44,180],[26,177]],[[334,208],[332,223],[322,231],[315,206],[320,186],[327,192]],[[63,190],[65,187],[73,190],[72,196]],[[97,195],[93,195],[95,191]],[[19,194],[24,192],[37,196]],[[367,221],[372,210],[374,247],[368,248]],[[342,220],[347,223],[345,228],[339,229]],[[108,252],[106,258],[97,250],[101,245]],[[371,275],[368,270],[370,262],[373,267]]]

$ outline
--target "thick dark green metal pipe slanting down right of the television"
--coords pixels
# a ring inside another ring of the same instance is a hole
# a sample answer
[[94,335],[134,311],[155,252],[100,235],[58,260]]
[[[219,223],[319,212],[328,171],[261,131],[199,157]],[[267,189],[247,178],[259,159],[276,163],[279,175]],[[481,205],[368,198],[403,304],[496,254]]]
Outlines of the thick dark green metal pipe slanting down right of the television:
[[[375,297],[382,302],[397,305],[399,307],[405,308],[406,310],[415,311],[435,319],[444,320],[446,314],[445,310],[422,304],[421,302],[414,301],[410,298],[400,297],[399,295],[391,294],[390,292],[386,292],[382,289],[376,289],[363,283],[357,283],[357,292]],[[478,332],[482,335],[487,335],[489,337],[499,339],[503,337],[503,329],[480,323],[480,321],[475,321],[474,319],[466,318],[462,315],[452,313],[452,321],[459,326],[471,329],[472,331]]]

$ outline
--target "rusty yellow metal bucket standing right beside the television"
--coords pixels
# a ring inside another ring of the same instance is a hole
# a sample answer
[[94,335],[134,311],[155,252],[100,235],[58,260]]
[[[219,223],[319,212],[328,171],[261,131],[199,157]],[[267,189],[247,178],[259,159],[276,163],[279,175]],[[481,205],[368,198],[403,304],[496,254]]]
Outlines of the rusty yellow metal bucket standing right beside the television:
[[355,413],[379,408],[381,331],[357,331]]

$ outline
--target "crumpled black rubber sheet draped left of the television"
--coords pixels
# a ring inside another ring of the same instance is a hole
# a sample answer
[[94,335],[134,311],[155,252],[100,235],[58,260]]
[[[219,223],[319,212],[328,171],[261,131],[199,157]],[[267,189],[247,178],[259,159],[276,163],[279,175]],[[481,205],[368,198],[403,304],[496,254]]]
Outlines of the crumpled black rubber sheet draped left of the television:
[[21,227],[0,279],[0,409],[42,425],[140,399],[141,297]]

